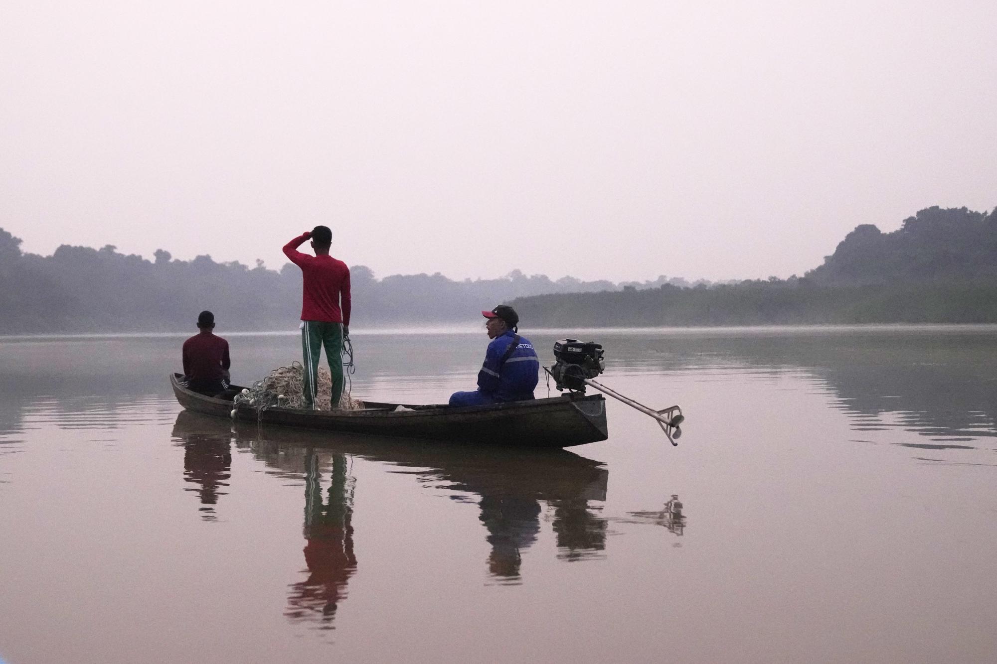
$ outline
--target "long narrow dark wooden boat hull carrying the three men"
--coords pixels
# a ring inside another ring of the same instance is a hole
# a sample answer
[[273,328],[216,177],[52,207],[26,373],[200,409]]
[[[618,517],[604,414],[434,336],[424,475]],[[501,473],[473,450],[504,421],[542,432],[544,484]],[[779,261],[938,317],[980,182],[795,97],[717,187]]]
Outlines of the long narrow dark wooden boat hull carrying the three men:
[[[230,401],[191,392],[180,378],[179,374],[169,376],[180,406],[204,415],[230,417]],[[597,394],[462,408],[379,402],[365,402],[365,406],[358,411],[270,408],[257,413],[240,404],[234,410],[238,420],[265,425],[530,448],[567,448],[604,441],[609,436],[605,400]],[[399,406],[406,410],[398,411]]]

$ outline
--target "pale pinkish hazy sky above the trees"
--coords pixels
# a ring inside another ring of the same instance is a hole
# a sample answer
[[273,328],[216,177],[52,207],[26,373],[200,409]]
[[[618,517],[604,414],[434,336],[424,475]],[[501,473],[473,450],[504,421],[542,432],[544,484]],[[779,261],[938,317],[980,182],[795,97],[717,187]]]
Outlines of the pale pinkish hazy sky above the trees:
[[997,205],[994,0],[4,0],[0,85],[43,254],[785,277]]

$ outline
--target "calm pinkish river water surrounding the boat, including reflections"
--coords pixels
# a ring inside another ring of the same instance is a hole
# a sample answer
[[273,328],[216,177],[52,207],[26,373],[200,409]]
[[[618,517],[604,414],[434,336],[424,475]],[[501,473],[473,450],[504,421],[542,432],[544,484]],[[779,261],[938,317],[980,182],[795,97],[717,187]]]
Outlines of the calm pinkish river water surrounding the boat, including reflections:
[[[218,332],[239,383],[298,357]],[[687,424],[556,454],[181,413],[185,336],[0,339],[0,660],[997,659],[995,327],[575,332]],[[354,337],[382,401],[487,343]]]

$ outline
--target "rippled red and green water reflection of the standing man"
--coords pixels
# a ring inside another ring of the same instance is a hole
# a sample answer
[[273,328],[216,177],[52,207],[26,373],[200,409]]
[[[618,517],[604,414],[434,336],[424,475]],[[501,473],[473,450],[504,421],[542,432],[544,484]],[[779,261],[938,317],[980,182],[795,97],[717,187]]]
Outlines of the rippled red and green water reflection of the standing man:
[[353,486],[344,455],[332,457],[329,501],[322,501],[318,455],[308,455],[305,476],[305,564],[308,578],[295,583],[288,598],[287,616],[303,619],[320,615],[324,629],[332,628],[346,584],[357,569],[353,553]]

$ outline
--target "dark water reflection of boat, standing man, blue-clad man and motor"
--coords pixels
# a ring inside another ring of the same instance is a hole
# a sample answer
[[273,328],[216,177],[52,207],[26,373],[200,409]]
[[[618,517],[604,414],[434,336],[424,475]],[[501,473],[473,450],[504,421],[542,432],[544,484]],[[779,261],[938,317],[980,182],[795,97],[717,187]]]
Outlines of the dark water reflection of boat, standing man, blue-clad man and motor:
[[[292,586],[288,615],[331,620],[357,568],[352,514],[354,481],[346,456],[355,455],[405,469],[423,484],[455,497],[479,498],[479,518],[491,545],[489,573],[501,581],[520,579],[521,554],[540,531],[541,502],[552,508],[557,558],[577,560],[605,548],[606,519],[589,501],[606,498],[608,471],[598,462],[563,450],[490,449],[454,444],[330,435],[269,429],[181,412],[173,435],[224,435],[284,477],[305,480],[305,558],[309,579]],[[410,470],[411,469],[411,470]],[[325,494],[320,489],[328,485]],[[310,552],[311,551],[311,552]]]

